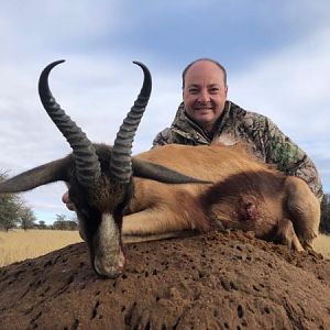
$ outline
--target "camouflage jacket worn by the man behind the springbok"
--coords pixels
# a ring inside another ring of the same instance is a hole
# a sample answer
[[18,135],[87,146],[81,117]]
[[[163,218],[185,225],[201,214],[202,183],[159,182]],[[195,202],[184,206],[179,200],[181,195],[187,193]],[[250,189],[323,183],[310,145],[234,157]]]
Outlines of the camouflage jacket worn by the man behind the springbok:
[[286,175],[304,179],[319,201],[322,200],[322,185],[317,168],[308,155],[286,136],[267,117],[249,112],[231,101],[226,102],[213,136],[209,136],[185,113],[182,103],[170,128],[160,132],[153,147],[177,143],[186,145],[210,144],[221,136],[248,142],[255,155],[273,164]]

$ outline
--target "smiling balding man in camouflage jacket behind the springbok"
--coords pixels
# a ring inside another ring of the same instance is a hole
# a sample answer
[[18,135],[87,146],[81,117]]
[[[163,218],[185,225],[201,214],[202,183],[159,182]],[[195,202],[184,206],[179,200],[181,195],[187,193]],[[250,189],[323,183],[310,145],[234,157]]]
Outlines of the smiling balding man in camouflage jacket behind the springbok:
[[266,117],[227,100],[227,73],[209,58],[190,63],[183,73],[183,99],[172,127],[158,133],[153,146],[198,145],[213,141],[244,141],[263,162],[304,179],[321,202],[317,168],[308,155]]

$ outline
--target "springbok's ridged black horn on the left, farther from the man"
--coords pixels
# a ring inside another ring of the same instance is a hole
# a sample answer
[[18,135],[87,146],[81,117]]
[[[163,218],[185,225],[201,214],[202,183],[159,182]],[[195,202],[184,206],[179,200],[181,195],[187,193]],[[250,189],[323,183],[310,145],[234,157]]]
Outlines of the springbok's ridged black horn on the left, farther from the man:
[[53,62],[44,68],[38,80],[38,95],[48,116],[73,148],[79,184],[89,188],[101,176],[100,163],[95,147],[81,129],[61,109],[48,86],[51,70],[63,62]]

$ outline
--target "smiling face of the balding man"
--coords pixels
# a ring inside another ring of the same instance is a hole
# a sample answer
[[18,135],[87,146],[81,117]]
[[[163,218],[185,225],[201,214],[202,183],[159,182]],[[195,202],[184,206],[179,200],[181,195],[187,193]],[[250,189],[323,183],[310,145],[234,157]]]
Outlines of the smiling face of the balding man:
[[224,110],[227,91],[220,67],[209,61],[195,63],[185,76],[183,97],[187,114],[211,132]]

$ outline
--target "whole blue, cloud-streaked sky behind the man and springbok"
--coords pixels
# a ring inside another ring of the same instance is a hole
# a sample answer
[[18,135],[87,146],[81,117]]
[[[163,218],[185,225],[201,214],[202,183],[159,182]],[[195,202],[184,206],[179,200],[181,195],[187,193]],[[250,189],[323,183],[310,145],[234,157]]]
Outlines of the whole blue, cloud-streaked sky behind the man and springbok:
[[[228,70],[229,99],[270,117],[316,163],[330,191],[330,7],[328,0],[19,0],[0,11],[0,170],[10,176],[70,152],[43,110],[41,70],[56,100],[94,142],[112,144],[146,64],[150,105],[133,153],[151,147],[182,101],[180,75],[200,57]],[[66,187],[21,194],[37,220],[66,210]]]

